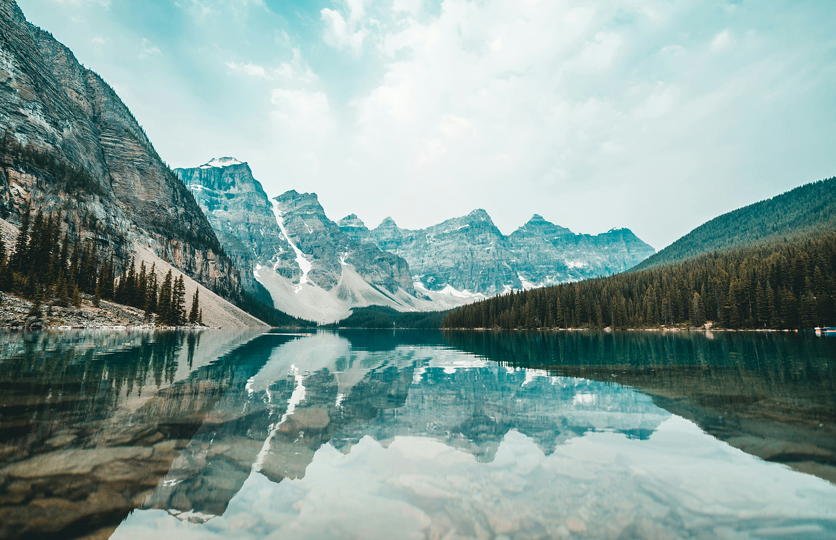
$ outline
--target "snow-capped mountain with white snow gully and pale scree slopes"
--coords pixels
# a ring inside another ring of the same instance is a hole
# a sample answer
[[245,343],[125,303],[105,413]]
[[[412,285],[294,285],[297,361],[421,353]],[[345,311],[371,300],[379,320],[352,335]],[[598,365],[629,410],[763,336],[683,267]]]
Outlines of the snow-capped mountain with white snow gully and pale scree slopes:
[[249,166],[234,158],[177,169],[224,250],[245,269],[245,285],[263,285],[276,308],[331,322],[350,308],[450,308],[416,297],[407,262],[355,239],[325,216],[315,193],[286,191],[271,201]]

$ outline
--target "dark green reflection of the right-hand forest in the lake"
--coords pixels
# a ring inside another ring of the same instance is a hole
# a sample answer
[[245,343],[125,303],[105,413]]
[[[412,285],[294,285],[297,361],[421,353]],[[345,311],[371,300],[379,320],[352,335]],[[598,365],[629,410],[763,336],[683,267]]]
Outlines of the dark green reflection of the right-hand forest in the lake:
[[445,332],[515,367],[635,387],[767,461],[836,482],[836,342],[811,334]]

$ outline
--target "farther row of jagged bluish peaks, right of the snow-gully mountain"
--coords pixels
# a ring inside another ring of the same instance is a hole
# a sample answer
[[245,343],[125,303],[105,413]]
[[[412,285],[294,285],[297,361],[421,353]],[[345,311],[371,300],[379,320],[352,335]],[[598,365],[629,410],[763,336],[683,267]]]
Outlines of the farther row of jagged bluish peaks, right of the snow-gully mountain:
[[484,210],[418,231],[391,217],[375,229],[351,214],[339,228],[404,257],[416,287],[450,293],[497,294],[622,272],[655,250],[629,229],[575,234],[537,214],[507,237]]

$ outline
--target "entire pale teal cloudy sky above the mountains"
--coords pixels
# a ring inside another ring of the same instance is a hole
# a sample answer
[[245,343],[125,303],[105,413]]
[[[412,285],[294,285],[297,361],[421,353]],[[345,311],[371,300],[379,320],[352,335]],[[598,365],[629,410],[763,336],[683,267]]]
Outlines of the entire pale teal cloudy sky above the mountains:
[[18,0],[172,166],[420,228],[481,207],[661,248],[836,175],[836,2]]

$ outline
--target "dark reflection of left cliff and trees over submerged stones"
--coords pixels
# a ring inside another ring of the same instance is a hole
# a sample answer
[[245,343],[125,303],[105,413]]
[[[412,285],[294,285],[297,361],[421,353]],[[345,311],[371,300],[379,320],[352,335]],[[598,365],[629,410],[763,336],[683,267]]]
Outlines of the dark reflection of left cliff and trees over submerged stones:
[[3,334],[0,537],[107,537],[217,400],[283,343],[245,344],[178,372],[203,341],[173,331]]

